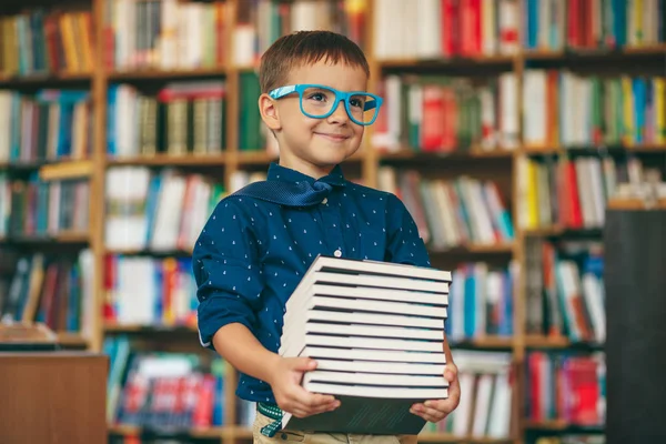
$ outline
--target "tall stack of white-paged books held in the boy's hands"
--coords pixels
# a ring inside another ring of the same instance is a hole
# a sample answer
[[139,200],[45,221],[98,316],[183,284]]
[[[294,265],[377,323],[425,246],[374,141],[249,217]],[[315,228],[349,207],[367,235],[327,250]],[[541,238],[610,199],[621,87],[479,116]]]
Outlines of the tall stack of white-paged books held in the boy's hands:
[[444,321],[451,272],[317,256],[286,302],[280,354],[317,362],[302,385],[341,406],[283,428],[417,434],[410,407],[448,396]]

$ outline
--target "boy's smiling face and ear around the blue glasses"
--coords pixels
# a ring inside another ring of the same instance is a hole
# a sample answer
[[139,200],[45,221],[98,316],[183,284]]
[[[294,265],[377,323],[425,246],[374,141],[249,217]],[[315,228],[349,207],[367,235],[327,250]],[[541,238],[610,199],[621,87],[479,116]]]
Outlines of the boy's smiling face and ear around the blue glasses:
[[[340,91],[365,91],[367,77],[362,68],[321,60],[292,69],[285,85],[299,83],[316,83]],[[321,178],[359,150],[364,127],[350,119],[343,102],[336,103],[327,118],[313,119],[301,112],[297,93],[271,104],[269,101],[268,98],[260,100],[260,108],[264,122],[275,131],[281,165]]]

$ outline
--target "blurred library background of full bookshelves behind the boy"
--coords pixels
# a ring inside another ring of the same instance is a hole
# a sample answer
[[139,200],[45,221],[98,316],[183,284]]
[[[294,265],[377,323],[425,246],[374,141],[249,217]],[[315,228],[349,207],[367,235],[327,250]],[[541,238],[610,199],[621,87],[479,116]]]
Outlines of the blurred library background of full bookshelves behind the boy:
[[259,65],[301,30],[365,53],[383,102],[344,178],[395,194],[452,276],[462,396],[418,442],[666,442],[665,21],[666,0],[2,0],[0,444],[253,441],[192,255],[279,161]]

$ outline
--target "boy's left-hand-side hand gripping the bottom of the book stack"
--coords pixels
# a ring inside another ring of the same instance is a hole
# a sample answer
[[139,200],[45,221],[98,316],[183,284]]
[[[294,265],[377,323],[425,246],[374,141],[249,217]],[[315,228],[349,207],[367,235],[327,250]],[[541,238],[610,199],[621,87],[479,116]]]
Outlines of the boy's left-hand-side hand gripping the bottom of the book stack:
[[334,396],[311,393],[301,386],[303,374],[314,369],[316,362],[310,357],[281,356],[278,360],[270,384],[280,408],[296,417],[305,417],[340,406]]

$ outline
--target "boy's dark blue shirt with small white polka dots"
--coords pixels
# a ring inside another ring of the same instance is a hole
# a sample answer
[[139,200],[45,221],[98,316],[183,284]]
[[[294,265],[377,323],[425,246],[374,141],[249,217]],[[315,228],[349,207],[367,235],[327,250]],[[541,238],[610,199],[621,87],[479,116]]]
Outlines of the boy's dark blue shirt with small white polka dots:
[[[315,181],[276,163],[266,180]],[[345,180],[340,165],[326,180],[341,186],[305,209],[233,194],[218,203],[192,261],[203,346],[213,349],[215,332],[238,322],[276,353],[286,300],[317,254],[431,266],[400,199]],[[236,395],[275,402],[268,383],[243,373]]]

